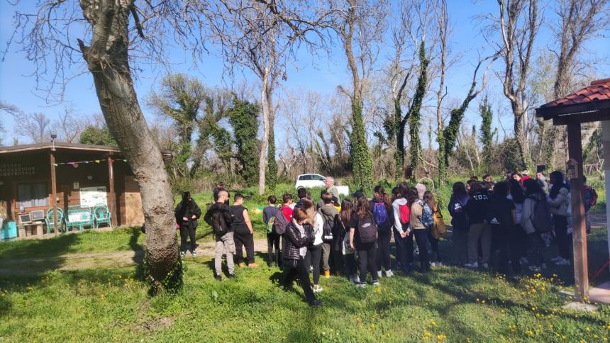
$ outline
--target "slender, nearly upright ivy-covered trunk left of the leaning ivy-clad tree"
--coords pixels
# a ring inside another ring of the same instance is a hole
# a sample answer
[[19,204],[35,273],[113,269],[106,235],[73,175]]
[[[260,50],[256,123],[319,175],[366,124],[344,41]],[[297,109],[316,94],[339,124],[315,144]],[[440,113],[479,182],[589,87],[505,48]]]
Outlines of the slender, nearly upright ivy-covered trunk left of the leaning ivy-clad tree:
[[[411,103],[411,108],[409,108],[409,113],[407,113],[407,117],[409,118],[409,137],[411,137],[411,170],[413,173],[411,177],[413,179],[416,178],[417,174],[417,165],[419,162],[419,153],[421,152],[421,140],[419,139],[419,128],[421,126],[421,103],[423,103],[423,98],[426,96],[426,84],[428,83],[428,64],[430,60],[426,57],[426,42],[424,40],[421,41],[419,45],[419,77],[417,79],[417,89],[415,91],[415,96],[413,102]],[[406,118],[404,121],[406,122]],[[404,140],[404,123],[401,123],[402,133],[399,140]],[[400,131],[400,128],[399,128]],[[399,147],[401,145],[399,144]],[[402,144],[404,151],[404,143]]]

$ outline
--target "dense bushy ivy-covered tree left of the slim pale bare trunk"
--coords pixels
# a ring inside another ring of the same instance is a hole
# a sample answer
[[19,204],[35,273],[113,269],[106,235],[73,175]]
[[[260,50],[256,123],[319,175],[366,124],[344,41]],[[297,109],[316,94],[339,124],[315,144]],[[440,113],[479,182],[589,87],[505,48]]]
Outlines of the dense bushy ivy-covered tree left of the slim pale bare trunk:
[[255,103],[233,98],[233,106],[227,111],[237,153],[235,159],[240,164],[239,174],[248,186],[255,186],[258,182],[258,153],[260,140],[258,134],[259,107]]

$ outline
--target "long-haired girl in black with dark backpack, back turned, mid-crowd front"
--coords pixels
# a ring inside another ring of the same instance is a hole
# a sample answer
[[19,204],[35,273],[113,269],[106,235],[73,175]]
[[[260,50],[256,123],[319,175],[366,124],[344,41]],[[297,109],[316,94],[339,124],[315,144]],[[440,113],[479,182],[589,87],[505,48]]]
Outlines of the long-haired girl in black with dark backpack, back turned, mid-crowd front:
[[350,221],[350,247],[356,249],[360,259],[360,282],[358,287],[367,286],[367,270],[371,274],[373,286],[379,286],[377,281],[377,265],[375,255],[377,254],[377,225],[370,209],[368,199],[363,196],[358,199],[355,215]]

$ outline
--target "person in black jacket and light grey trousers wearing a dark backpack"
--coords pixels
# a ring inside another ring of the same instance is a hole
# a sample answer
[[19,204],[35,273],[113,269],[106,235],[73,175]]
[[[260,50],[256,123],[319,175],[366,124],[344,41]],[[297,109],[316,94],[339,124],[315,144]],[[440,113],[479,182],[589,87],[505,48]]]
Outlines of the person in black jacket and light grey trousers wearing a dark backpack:
[[225,190],[218,192],[218,198],[216,203],[212,204],[204,220],[212,227],[214,233],[215,252],[216,257],[214,258],[214,271],[216,271],[216,281],[222,281],[222,259],[223,252],[226,250],[227,254],[227,267],[228,267],[228,278],[235,278],[235,263],[233,262],[233,254],[235,254],[235,241],[233,240],[233,230],[231,229],[231,222],[233,222],[233,215],[231,215],[231,209],[225,203],[228,199],[228,193]]

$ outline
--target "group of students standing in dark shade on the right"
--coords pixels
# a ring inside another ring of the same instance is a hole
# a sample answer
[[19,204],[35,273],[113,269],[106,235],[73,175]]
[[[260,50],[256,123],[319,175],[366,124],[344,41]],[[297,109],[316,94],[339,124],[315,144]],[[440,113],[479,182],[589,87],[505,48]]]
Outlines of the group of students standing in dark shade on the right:
[[[597,193],[584,188],[584,203],[595,204]],[[503,274],[545,269],[544,249],[555,240],[555,265],[571,264],[570,185],[561,171],[553,171],[547,182],[543,172],[536,179],[514,172],[494,183],[486,175],[467,183],[453,184],[449,203],[453,226],[455,262],[467,268],[495,269]],[[590,230],[587,220],[587,230]]]

